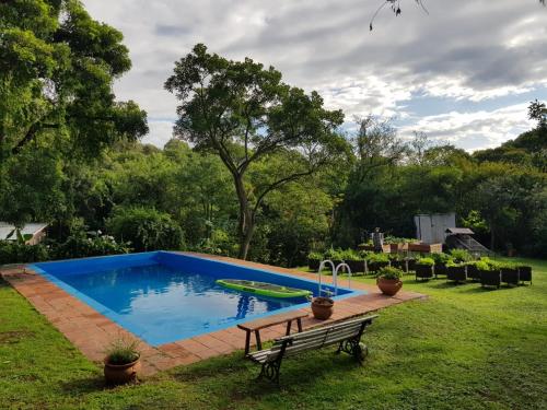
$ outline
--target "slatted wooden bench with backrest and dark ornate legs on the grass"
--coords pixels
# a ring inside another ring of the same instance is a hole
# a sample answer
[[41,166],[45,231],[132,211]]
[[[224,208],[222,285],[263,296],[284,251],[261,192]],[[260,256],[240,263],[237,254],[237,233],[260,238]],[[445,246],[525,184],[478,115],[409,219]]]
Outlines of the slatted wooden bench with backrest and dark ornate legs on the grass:
[[361,336],[376,317],[377,315],[361,317],[286,336],[277,339],[270,349],[252,353],[248,358],[263,366],[258,378],[266,377],[276,383],[279,383],[279,370],[283,358],[327,345],[338,344],[336,353],[349,353],[362,363],[369,350],[361,343]]

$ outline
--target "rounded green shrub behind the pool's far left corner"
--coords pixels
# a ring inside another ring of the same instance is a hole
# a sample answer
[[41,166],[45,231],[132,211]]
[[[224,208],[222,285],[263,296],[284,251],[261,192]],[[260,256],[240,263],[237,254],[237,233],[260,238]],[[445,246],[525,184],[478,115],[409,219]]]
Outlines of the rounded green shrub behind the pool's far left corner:
[[183,231],[170,214],[153,208],[118,208],[107,226],[119,241],[129,241],[137,251],[181,249]]

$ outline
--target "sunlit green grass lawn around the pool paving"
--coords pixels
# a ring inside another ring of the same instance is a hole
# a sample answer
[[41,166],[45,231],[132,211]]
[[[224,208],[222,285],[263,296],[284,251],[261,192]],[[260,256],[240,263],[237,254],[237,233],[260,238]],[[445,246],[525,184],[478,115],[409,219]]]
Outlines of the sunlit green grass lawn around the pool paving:
[[[288,360],[281,386],[255,383],[241,352],[104,387],[89,362],[5,283],[0,284],[0,407],[36,409],[547,409],[547,262],[534,284],[482,290],[443,280],[382,311],[364,366],[325,349]],[[371,279],[359,279],[372,283]]]

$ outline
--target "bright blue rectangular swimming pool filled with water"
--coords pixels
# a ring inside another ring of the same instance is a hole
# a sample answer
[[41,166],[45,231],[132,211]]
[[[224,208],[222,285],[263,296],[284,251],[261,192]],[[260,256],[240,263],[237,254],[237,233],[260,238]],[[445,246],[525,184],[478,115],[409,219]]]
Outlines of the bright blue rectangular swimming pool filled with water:
[[[309,305],[305,298],[230,290],[217,284],[217,279],[256,280],[317,294],[315,281],[168,251],[42,262],[31,268],[152,345]],[[360,293],[338,288],[335,298]]]

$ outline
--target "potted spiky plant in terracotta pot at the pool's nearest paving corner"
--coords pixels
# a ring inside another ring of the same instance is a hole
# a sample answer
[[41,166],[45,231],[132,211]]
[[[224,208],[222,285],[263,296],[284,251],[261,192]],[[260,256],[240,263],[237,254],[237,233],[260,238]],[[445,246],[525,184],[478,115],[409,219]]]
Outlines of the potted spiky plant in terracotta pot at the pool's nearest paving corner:
[[105,351],[104,376],[106,383],[119,385],[137,380],[140,372],[138,340],[115,340]]

